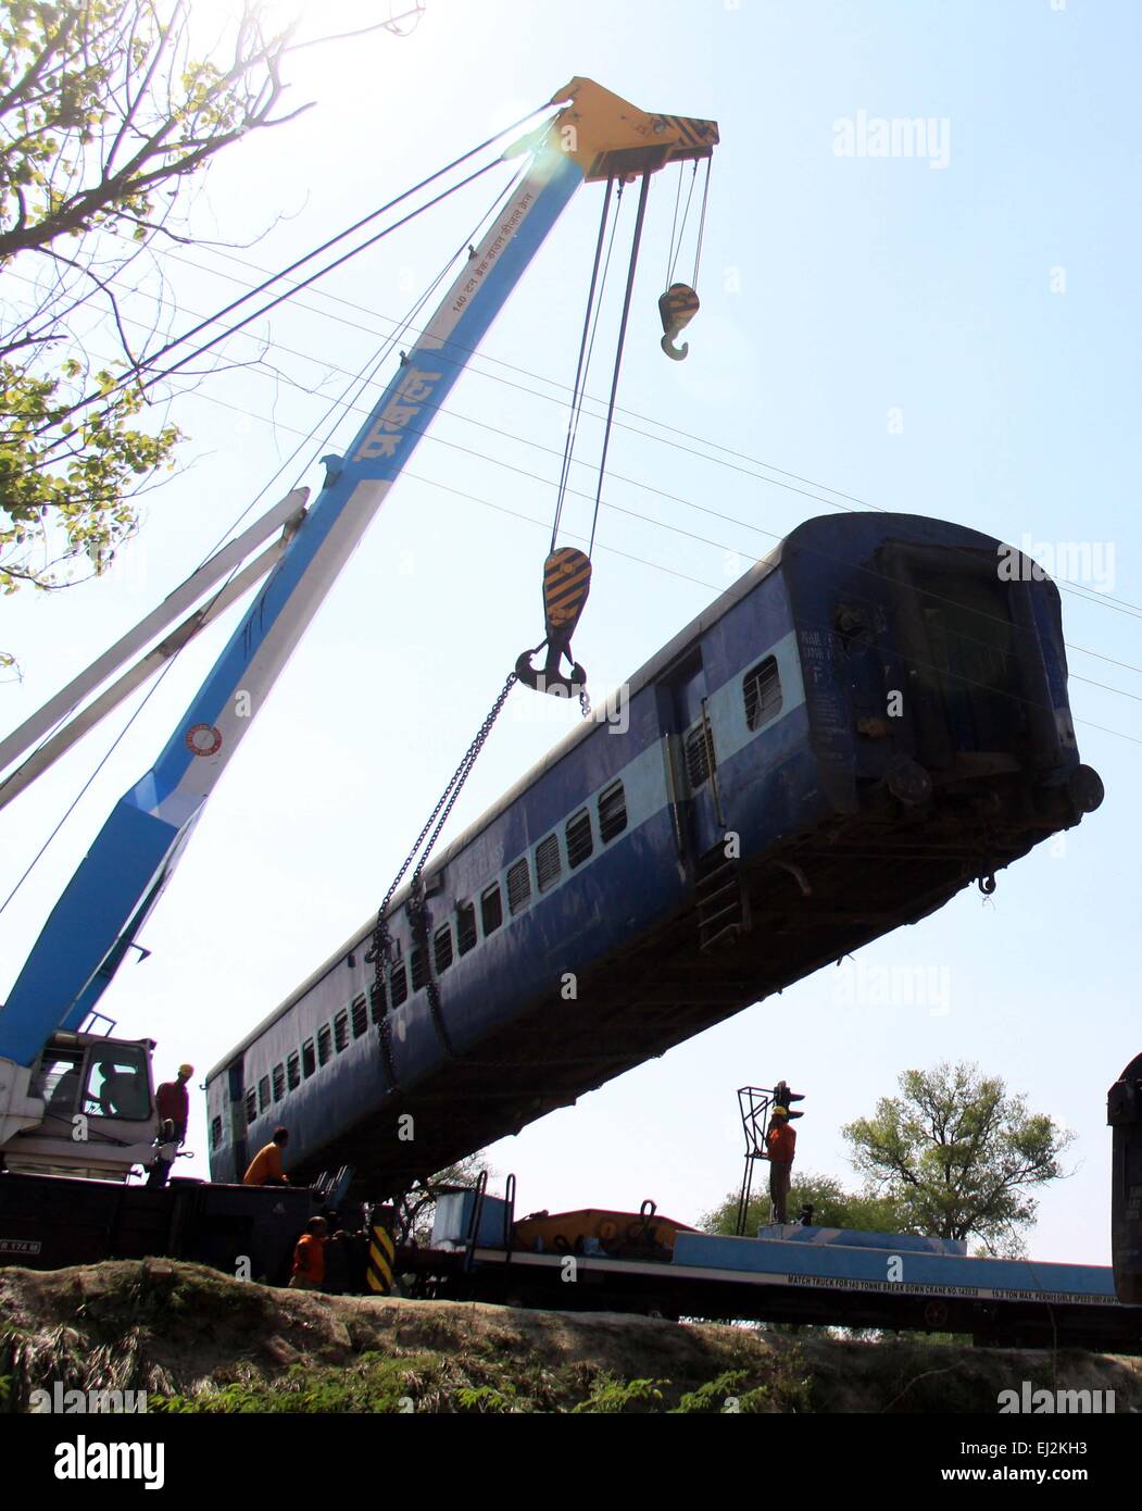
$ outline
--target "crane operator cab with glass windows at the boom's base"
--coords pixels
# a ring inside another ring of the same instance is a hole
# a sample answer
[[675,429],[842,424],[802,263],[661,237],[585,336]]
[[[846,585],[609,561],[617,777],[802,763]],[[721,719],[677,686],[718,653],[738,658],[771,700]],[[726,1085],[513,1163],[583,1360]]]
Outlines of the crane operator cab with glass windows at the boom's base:
[[29,1080],[42,1114],[3,1145],[6,1168],[125,1180],[148,1165],[159,1132],[153,1049],[153,1040],[53,1034]]

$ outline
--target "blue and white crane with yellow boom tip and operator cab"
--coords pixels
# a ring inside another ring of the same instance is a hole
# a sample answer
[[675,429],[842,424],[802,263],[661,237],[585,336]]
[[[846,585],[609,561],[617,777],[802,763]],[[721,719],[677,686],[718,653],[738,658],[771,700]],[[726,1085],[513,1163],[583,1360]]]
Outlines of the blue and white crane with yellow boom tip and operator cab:
[[[157,760],[119,798],[95,836],[0,1009],[0,1156],[9,1171],[122,1180],[134,1165],[150,1160],[159,1126],[150,1064],[154,1044],[85,1032],[85,1026],[92,1015],[103,1017],[97,1006],[127,952],[137,947],[139,931],[252,718],[580,184],[642,178],[645,195],[648,175],[671,163],[708,159],[719,139],[713,121],[639,110],[589,79],[573,79],[548,106],[557,107],[556,113],[505,151],[505,157],[530,153],[530,162],[479,245],[470,248],[423,334],[402,354],[344,456],[325,458],[325,484],[316,500],[310,505],[307,490],[292,493],[192,579],[201,594],[233,565],[239,545],[249,550],[281,527],[281,539],[210,606],[208,616],[216,616],[224,603],[269,571]],[[683,310],[677,299],[671,308],[663,325],[677,334],[692,310]],[[192,592],[172,595],[162,623],[190,600]],[[154,633],[157,615],[115,651],[130,654]],[[169,638],[166,651],[171,641],[183,644],[202,623],[201,610],[192,615]],[[162,654],[160,648],[131,668],[116,683],[118,692],[136,686]],[[30,749],[57,713],[74,706],[76,694],[104,680],[113,665],[121,660],[107,653],[3,742],[5,766]],[[80,724],[94,722],[109,701],[110,695],[97,700]],[[53,736],[57,746],[69,739]],[[32,780],[44,760],[41,746],[9,778],[8,796]]]

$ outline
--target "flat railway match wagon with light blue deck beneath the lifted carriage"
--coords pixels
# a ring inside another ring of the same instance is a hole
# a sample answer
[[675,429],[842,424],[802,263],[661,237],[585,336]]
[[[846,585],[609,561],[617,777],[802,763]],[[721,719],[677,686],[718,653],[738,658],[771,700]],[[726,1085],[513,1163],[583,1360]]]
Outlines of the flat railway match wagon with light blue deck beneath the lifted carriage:
[[[414,1289],[579,1312],[962,1333],[979,1345],[1142,1354],[1142,1307],[1098,1265],[967,1254],[952,1239],[766,1225],[757,1238],[695,1233],[639,1215],[544,1216],[532,1241],[511,1204],[474,1192],[440,1204],[432,1247],[402,1251]],[[606,1233],[606,1227],[603,1228]]]

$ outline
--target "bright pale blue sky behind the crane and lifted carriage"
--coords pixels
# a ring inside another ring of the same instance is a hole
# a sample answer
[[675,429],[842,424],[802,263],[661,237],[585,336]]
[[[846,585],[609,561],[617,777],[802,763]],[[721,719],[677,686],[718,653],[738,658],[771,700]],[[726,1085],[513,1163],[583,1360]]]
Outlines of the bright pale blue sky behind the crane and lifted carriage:
[[[329,30],[331,15],[349,30],[376,6],[313,6],[302,35]],[[736,1088],[781,1077],[805,1094],[799,1165],[855,1185],[844,1124],[891,1095],[902,1071],[970,1061],[1074,1132],[1069,1177],[1041,1194],[1032,1256],[1109,1262],[1106,1091],[1142,1049],[1140,33],[1130,0],[675,0],[653,11],[427,0],[408,36],[296,53],[292,98],[314,107],[219,157],[190,209],[201,245],[162,254],[163,317],[178,329],[576,74],[640,109],[713,118],[722,142],[684,363],[659,351],[675,178],[651,189],[576,636],[592,686],[621,683],[799,521],[843,508],[955,520],[1069,579],[1071,703],[1082,756],[1106,783],[1103,808],[1000,873],[994,898],[965,890],[494,1145],[491,1189],[514,1171],[521,1210],[637,1210],[651,1197],[696,1221],[742,1179]],[[923,133],[897,130],[897,147],[906,138],[923,150],[876,153],[878,121],[921,121]],[[320,485],[316,458],[360,423],[350,416],[323,443],[346,375],[468,240],[509,172],[287,301],[252,337],[231,337],[222,370],[172,391],[165,414],[187,440],[144,502],[139,538],[95,582],[0,604],[0,644],[21,662],[21,680],[0,686],[0,730],[130,629],[234,521],[296,480]],[[104,996],[119,1032],[157,1041],[162,1079],[189,1059],[201,1083],[370,919],[515,656],[541,638],[600,195],[579,192],[498,317],[215,792],[140,938],[150,958]],[[628,202],[622,264],[631,213]],[[675,277],[690,277],[692,230]],[[125,290],[148,323],[150,287]],[[615,277],[595,399],[619,295]],[[594,497],[598,413],[580,429],[566,544],[589,529],[580,494]],[[236,615],[178,659],[110,754],[139,700],[5,811],[0,901],[103,762],[0,911],[0,999]],[[576,718],[514,694],[450,833]],[[196,1157],[180,1174],[205,1176],[201,1095],[189,1147]]]

